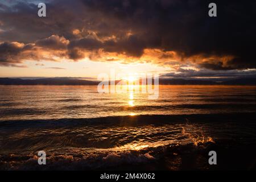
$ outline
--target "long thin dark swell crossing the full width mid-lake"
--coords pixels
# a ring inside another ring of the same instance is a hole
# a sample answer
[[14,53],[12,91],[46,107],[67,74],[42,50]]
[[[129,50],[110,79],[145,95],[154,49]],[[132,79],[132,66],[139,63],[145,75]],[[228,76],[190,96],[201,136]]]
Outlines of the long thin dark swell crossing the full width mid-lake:
[[[25,110],[30,112],[30,110]],[[24,112],[24,113],[26,113]],[[245,119],[247,118],[247,119]],[[251,113],[220,113],[220,114],[175,114],[175,115],[125,115],[109,116],[98,118],[61,118],[61,119],[26,119],[26,120],[8,120],[0,121],[0,127],[15,125],[17,127],[33,126],[88,126],[88,125],[162,125],[164,123],[184,123],[189,119],[194,123],[212,123],[212,122],[242,122],[255,123],[256,112]]]

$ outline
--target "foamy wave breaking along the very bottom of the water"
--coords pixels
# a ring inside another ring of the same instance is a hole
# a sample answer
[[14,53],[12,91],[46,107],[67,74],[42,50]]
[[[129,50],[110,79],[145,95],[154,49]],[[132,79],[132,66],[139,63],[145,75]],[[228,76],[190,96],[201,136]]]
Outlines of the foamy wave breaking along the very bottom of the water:
[[[209,165],[209,151],[218,151],[218,165]],[[46,165],[38,165],[37,152],[0,155],[1,170],[255,170],[256,148],[212,142],[168,144],[128,151],[86,152],[73,148],[46,153]],[[221,157],[223,156],[223,157]],[[236,162],[232,162],[237,159]]]

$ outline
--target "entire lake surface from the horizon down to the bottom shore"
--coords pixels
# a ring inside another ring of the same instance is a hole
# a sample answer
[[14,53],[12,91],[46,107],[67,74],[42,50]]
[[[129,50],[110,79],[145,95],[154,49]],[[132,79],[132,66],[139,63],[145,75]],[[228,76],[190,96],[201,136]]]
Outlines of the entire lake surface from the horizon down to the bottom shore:
[[[100,94],[97,86],[0,93],[0,169],[207,169],[209,146],[256,146],[255,86],[165,85],[157,100]],[[47,166],[38,166],[39,150]]]

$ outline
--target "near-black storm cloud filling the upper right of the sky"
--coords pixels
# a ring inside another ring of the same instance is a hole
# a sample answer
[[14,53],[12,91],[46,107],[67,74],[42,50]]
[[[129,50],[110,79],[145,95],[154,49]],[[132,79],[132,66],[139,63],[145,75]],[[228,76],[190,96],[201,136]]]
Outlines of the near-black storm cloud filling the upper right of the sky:
[[[84,4],[102,15],[115,18],[135,32],[133,46],[176,51],[183,59],[200,55],[233,56],[201,63],[209,69],[255,68],[255,1],[214,1],[217,18],[209,18],[209,1],[103,1],[84,0]],[[146,40],[146,41],[145,41]],[[117,44],[118,45],[118,44]],[[119,45],[118,45],[119,47]],[[130,52],[133,52],[130,50]],[[139,55],[139,54],[138,54]]]

